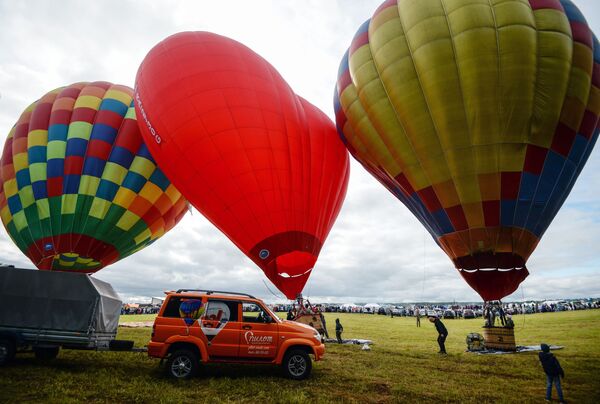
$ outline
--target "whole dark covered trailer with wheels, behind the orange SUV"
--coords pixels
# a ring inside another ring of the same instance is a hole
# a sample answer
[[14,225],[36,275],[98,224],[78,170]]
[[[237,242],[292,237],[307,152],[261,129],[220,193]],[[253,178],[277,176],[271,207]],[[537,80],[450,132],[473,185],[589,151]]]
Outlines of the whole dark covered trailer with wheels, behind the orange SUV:
[[59,349],[131,350],[116,341],[121,299],[92,276],[0,266],[0,365],[32,349],[53,359]]

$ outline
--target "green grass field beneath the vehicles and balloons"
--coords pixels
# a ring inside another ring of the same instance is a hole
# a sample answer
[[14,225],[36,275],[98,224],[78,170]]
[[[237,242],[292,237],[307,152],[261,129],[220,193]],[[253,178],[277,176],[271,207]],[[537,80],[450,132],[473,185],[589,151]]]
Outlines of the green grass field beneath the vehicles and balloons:
[[[432,324],[367,314],[339,317],[345,338],[374,342],[371,351],[328,344],[310,379],[294,382],[276,367],[207,365],[191,381],[167,379],[142,353],[61,351],[50,363],[18,355],[0,369],[0,402],[543,402],[545,377],[537,353],[466,353],[465,336],[481,320],[445,320],[448,356],[440,356]],[[150,316],[151,318],[151,316]],[[554,351],[571,403],[600,403],[600,310],[515,316],[518,345],[564,345]],[[123,316],[122,322],[147,321]],[[150,329],[120,328],[118,338],[143,346]],[[554,392],[555,394],[555,392]]]

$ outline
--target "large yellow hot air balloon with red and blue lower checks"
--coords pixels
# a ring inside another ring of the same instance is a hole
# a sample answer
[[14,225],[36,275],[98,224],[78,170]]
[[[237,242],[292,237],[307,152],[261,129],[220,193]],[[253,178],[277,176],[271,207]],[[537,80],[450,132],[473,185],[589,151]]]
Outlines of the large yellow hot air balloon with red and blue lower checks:
[[350,153],[496,300],[528,275],[596,142],[600,47],[568,0],[390,0],[334,99]]

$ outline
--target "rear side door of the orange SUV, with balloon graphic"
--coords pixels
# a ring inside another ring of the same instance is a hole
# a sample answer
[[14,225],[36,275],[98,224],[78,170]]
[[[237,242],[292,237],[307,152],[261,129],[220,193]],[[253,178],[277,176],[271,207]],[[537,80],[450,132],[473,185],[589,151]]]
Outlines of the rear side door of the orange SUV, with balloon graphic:
[[211,359],[234,358],[240,342],[240,302],[208,298],[206,310],[199,319],[200,329],[207,340]]

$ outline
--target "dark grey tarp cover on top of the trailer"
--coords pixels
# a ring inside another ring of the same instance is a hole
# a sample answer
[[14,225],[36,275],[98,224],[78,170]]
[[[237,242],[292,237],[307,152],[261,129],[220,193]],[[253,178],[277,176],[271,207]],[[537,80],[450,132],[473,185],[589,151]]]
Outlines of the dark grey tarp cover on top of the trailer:
[[121,299],[84,274],[0,267],[0,326],[116,332]]

